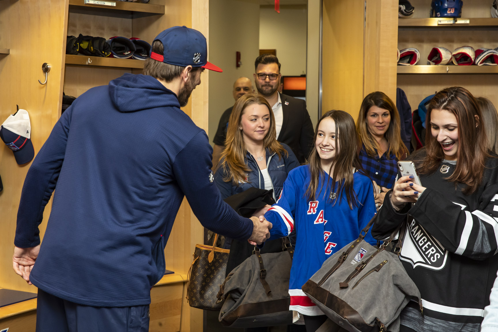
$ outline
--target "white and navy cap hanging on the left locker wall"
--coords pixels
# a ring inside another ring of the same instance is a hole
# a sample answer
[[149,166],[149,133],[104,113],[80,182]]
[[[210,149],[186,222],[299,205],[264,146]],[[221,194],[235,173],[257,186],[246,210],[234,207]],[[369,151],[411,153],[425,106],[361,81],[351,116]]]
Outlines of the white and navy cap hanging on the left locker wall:
[[30,162],[34,157],[30,135],[31,124],[26,110],[11,114],[0,127],[0,138],[13,151],[15,161],[19,165]]

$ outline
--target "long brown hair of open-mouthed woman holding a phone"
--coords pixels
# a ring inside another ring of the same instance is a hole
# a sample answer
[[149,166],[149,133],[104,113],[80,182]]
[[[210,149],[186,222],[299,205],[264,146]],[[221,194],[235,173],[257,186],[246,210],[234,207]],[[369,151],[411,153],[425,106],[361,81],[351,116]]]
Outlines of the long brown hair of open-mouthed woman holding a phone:
[[[481,110],[472,94],[462,87],[445,88],[431,99],[427,107],[427,126],[431,125],[433,110],[449,111],[458,124],[458,150],[455,172],[447,180],[467,185],[463,193],[474,193],[481,184],[488,153],[486,132]],[[477,118],[476,118],[477,115]],[[425,133],[426,155],[416,162],[420,174],[433,173],[444,158],[443,148],[432,136],[430,127]]]

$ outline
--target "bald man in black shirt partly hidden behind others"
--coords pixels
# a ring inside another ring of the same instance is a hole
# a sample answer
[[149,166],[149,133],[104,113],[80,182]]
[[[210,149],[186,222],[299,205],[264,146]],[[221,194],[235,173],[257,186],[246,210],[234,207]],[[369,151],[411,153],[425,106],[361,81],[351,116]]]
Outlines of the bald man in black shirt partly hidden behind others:
[[[251,94],[254,92],[252,87],[252,82],[247,77],[241,77],[234,83],[234,91],[232,92],[235,101],[237,102],[239,98],[246,94]],[[225,139],[227,138],[227,128],[228,120],[230,114],[232,114],[232,109],[234,107],[229,107],[223,112],[220,118],[220,123],[218,124],[218,129],[216,130],[215,138],[213,139],[213,168],[216,167],[218,161],[220,161],[220,155],[225,147]]]

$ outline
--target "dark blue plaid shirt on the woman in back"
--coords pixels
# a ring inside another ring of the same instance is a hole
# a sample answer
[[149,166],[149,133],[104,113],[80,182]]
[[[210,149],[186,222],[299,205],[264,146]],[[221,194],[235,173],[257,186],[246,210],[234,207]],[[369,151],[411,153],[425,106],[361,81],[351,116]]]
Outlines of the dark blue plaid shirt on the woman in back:
[[372,178],[373,181],[377,183],[380,187],[385,187],[391,189],[394,180],[396,179],[396,174],[398,169],[396,166],[396,156],[392,153],[387,159],[387,151],[379,158],[377,150],[375,149],[375,155],[369,156],[365,145],[362,146],[360,150],[360,161],[362,163],[363,169]]

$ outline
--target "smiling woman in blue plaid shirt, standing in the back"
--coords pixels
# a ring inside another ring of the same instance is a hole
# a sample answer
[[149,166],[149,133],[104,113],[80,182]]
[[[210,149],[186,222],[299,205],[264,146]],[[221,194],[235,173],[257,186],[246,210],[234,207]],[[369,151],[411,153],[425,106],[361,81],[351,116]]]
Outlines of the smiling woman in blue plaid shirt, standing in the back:
[[360,161],[374,181],[373,195],[378,211],[396,179],[396,161],[408,155],[401,140],[399,114],[389,97],[379,91],[365,97],[356,130],[360,137]]

